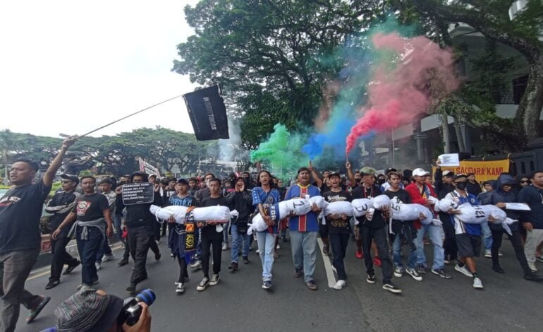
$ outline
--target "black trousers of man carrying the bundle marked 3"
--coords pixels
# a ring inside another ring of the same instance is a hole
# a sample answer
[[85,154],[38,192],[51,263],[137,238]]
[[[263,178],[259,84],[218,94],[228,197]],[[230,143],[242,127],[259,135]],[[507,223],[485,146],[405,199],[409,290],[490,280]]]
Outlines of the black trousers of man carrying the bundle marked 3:
[[386,243],[386,231],[384,227],[372,228],[360,225],[360,239],[362,239],[366,273],[369,275],[375,274],[372,255],[370,255],[372,240],[374,240],[375,245],[377,245],[377,256],[379,256],[382,262],[381,272],[383,273],[383,283],[390,283],[392,280],[392,262],[390,261],[389,246]]

